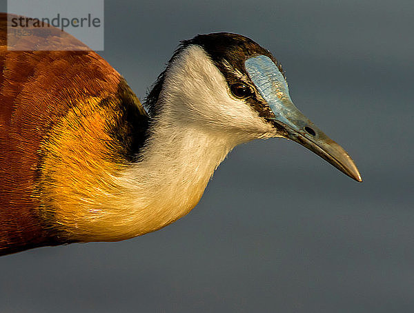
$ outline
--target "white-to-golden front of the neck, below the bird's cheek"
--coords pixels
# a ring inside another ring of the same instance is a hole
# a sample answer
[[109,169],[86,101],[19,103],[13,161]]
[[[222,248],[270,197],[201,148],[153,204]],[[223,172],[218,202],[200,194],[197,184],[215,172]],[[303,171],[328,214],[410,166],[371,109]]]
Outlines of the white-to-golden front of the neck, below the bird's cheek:
[[[168,122],[161,118],[157,123]],[[155,125],[141,160],[121,178],[128,212],[122,225],[132,222],[131,236],[162,228],[190,212],[235,146],[218,133],[169,124]]]

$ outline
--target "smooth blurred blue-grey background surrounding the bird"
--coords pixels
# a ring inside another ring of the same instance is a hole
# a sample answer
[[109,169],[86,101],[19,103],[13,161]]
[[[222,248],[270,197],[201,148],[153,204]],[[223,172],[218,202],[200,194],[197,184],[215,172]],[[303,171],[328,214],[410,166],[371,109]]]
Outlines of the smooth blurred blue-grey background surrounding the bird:
[[163,230],[1,257],[0,312],[413,312],[413,1],[107,0],[105,22],[141,98],[179,40],[251,37],[364,182],[297,143],[239,146]]

